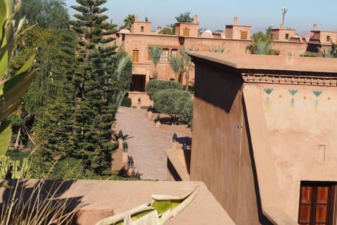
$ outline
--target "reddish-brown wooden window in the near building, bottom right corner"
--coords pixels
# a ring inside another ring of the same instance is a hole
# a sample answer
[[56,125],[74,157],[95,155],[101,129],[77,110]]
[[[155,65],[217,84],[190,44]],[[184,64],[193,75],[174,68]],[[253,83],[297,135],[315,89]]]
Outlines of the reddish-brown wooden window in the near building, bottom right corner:
[[298,224],[332,224],[335,188],[331,182],[301,182]]

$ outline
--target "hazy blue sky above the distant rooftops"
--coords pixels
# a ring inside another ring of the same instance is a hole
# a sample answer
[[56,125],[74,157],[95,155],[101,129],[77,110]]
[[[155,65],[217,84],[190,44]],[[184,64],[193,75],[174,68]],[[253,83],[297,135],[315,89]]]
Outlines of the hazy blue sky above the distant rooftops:
[[[65,0],[67,6],[77,5],[75,0]],[[103,5],[109,9],[107,15],[113,23],[122,25],[128,14],[136,14],[139,20],[145,16],[152,28],[175,23],[175,17],[187,11],[198,15],[199,28],[225,30],[233,23],[234,16],[240,25],[251,25],[253,30],[265,29],[269,25],[278,28],[282,23],[282,7],[287,8],[285,27],[298,33],[312,30],[337,30],[336,0],[108,0]],[[74,14],[70,10],[70,15]]]

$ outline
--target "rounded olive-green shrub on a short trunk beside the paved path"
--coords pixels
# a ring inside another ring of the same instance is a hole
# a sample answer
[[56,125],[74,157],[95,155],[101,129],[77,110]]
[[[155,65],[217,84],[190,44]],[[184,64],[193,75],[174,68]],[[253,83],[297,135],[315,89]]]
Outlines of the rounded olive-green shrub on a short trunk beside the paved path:
[[191,100],[191,94],[188,91],[167,89],[155,92],[152,99],[154,108],[159,113],[170,115],[171,122],[176,123],[179,115],[186,111],[185,106],[188,106],[186,103]]

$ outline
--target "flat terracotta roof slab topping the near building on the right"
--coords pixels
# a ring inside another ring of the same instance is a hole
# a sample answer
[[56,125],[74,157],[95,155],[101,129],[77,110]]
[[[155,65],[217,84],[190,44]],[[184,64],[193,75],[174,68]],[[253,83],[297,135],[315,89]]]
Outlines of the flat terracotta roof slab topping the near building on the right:
[[192,58],[201,58],[242,70],[282,70],[296,72],[337,73],[337,58],[300,56],[267,56],[234,53],[187,51]]

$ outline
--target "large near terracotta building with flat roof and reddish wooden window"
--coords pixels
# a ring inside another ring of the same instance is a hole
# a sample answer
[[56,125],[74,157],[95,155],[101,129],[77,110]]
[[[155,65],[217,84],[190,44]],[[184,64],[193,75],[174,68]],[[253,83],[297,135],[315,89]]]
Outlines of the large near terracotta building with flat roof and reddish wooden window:
[[336,224],[336,59],[189,54],[189,179],[235,224]]

